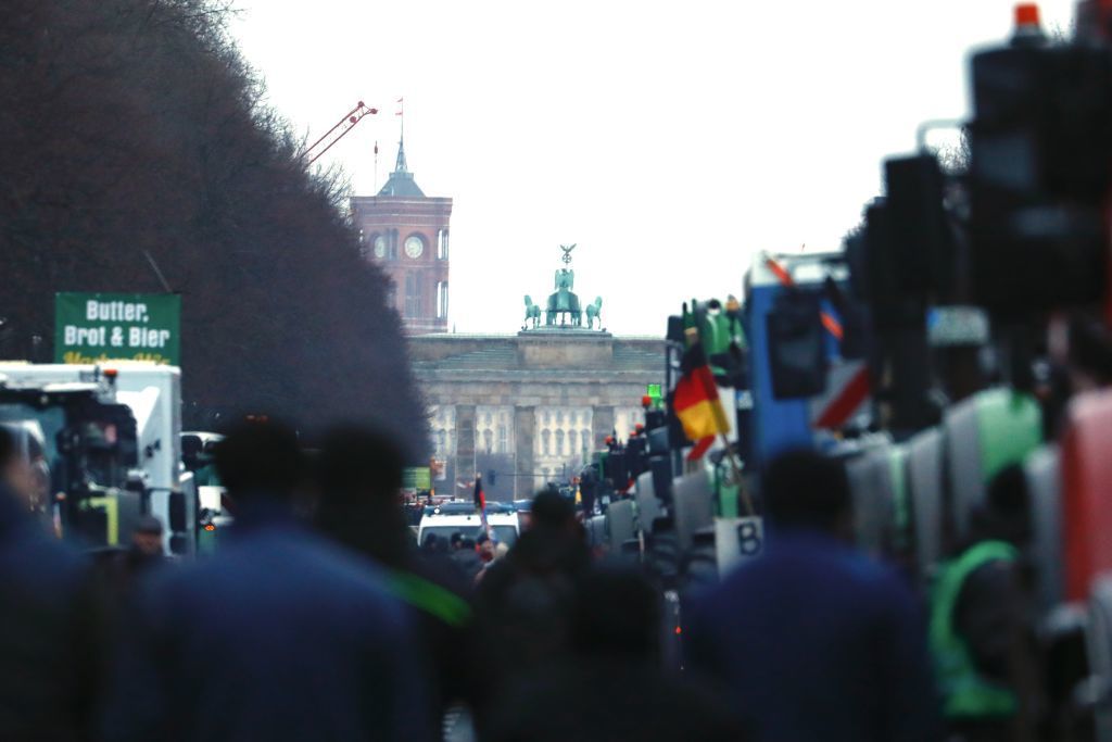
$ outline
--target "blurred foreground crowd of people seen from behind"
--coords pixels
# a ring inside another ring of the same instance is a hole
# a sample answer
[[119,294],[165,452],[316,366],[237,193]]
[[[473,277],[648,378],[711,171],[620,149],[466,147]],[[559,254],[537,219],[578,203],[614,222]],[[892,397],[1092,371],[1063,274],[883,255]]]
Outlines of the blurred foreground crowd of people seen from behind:
[[495,742],[1026,739],[1006,476],[926,604],[851,545],[843,466],[785,454],[768,546],[685,603],[679,670],[658,586],[595,558],[558,493],[508,551],[421,548],[374,432],[309,457],[255,422],[215,457],[237,515],[214,555],[167,560],[151,518],[90,560],[28,516],[0,433],[0,739],[420,741],[458,709]]

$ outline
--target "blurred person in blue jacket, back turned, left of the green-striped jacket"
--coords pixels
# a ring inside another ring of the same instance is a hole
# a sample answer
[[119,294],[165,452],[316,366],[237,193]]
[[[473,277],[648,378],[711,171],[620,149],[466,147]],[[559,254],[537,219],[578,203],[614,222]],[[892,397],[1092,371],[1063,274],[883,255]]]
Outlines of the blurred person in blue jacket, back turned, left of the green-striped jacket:
[[145,585],[105,738],[429,739],[419,651],[385,576],[291,515],[296,435],[245,424],[215,454],[238,505],[232,538]]

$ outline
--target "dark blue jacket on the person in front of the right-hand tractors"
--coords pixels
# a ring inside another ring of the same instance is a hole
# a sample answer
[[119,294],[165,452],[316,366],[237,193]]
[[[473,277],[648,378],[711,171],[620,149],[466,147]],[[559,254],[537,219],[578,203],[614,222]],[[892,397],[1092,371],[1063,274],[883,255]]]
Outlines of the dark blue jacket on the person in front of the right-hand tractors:
[[765,742],[937,740],[925,624],[895,573],[817,533],[770,541],[696,601],[689,665]]

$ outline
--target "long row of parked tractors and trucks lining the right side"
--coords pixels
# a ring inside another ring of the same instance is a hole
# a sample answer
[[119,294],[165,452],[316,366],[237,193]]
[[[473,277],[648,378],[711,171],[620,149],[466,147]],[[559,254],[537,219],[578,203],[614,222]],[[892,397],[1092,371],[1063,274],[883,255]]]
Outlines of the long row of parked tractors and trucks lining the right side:
[[[696,466],[674,419],[649,429],[651,472],[598,532],[688,575],[726,568],[761,550],[739,503],[759,511],[762,466],[814,448],[846,464],[858,545],[929,595],[1017,473],[1050,702],[1082,720],[1070,739],[1112,740],[1112,8],[1081,10],[1071,42],[1026,21],[972,56],[967,162],[890,158],[842,250],[759,254],[742,303],[674,318],[666,386],[697,338],[732,453]],[[731,455],[741,476],[722,477]]]

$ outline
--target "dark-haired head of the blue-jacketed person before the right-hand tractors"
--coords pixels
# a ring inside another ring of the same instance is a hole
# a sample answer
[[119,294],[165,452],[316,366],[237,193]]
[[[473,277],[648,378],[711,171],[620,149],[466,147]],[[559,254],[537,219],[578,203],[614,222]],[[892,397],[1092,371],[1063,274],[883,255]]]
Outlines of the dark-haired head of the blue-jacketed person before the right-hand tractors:
[[774,526],[850,535],[853,499],[842,462],[813,451],[781,454],[765,468],[762,491]]

